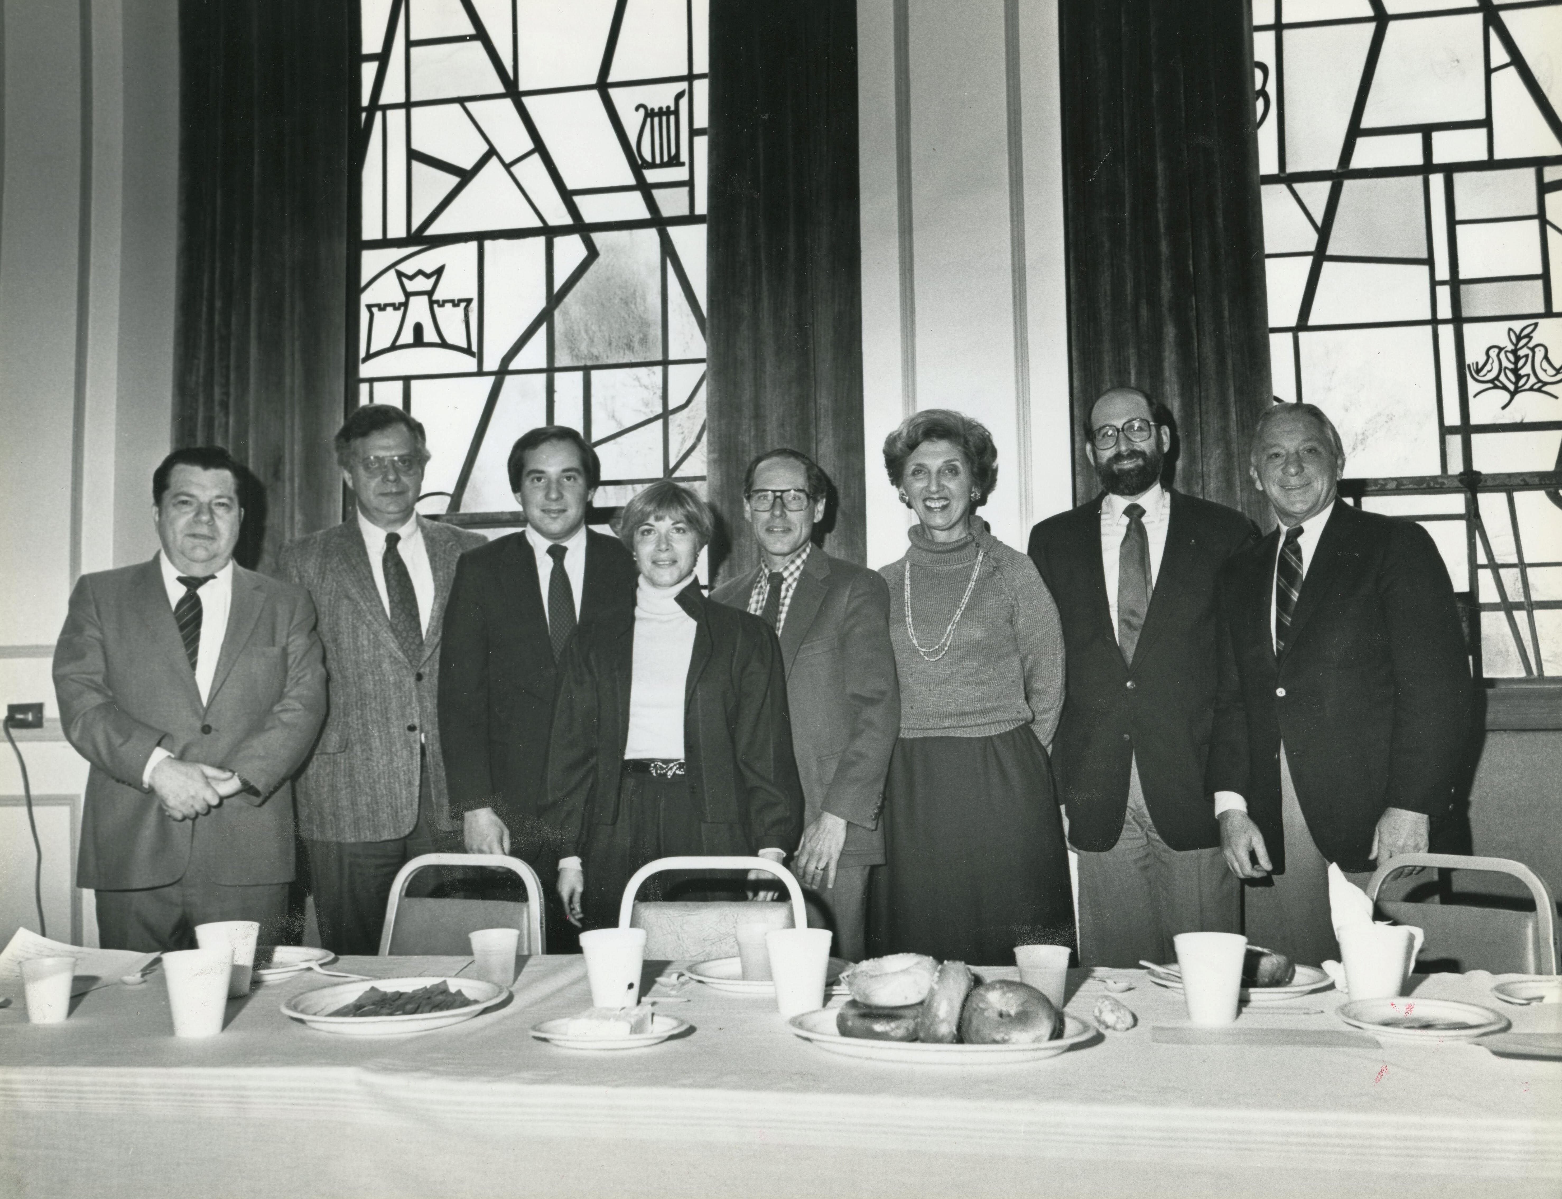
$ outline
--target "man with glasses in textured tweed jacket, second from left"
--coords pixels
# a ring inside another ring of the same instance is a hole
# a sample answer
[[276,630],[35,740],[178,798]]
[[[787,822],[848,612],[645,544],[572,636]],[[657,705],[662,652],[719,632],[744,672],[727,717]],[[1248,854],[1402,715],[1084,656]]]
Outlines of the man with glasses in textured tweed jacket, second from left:
[[456,559],[484,537],[414,511],[428,445],[390,404],[364,404],[336,434],[356,498],[341,525],[291,542],[283,578],[320,614],[331,709],[298,776],[320,943],[375,954],[397,871],[461,851],[439,752],[439,631]]

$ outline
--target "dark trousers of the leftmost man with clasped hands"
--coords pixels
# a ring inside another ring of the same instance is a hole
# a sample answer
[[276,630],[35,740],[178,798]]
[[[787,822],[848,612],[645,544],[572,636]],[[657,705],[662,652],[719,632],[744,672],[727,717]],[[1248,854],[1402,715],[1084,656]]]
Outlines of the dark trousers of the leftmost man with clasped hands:
[[195,926],[217,920],[258,921],[261,945],[276,945],[287,918],[286,882],[231,885],[198,866],[166,887],[97,891],[95,899],[98,945],[144,954],[194,949]]

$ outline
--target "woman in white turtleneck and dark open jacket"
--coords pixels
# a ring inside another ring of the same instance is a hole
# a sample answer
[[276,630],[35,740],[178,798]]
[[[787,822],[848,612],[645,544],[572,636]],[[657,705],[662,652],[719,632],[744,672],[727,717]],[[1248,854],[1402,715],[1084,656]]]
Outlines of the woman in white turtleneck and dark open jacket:
[[542,815],[564,909],[586,927],[617,923],[625,884],[653,859],[781,860],[801,832],[775,632],[694,581],[712,525],[675,482],[636,495],[619,531],[640,571],[633,618],[583,624],[559,664]]

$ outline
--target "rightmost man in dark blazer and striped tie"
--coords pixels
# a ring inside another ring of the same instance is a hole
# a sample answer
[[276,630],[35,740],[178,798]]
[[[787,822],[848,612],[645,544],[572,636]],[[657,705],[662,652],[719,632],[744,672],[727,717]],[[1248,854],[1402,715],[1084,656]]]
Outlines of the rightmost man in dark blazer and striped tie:
[[1211,773],[1248,940],[1337,957],[1328,865],[1364,882],[1429,845],[1470,737],[1470,659],[1426,529],[1339,503],[1340,434],[1312,404],[1268,409],[1254,487],[1279,528],[1221,575]]

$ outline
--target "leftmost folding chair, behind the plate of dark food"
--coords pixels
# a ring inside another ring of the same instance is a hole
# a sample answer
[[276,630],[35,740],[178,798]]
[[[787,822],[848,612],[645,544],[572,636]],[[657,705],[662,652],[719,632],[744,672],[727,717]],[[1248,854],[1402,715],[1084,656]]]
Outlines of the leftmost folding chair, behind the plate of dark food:
[[[526,901],[433,899],[406,896],[408,881],[425,866],[494,866],[512,870],[526,885]],[[540,954],[542,881],[519,857],[505,854],[423,854],[397,871],[386,904],[380,954],[469,954],[467,934],[478,929],[520,929],[517,952]]]

